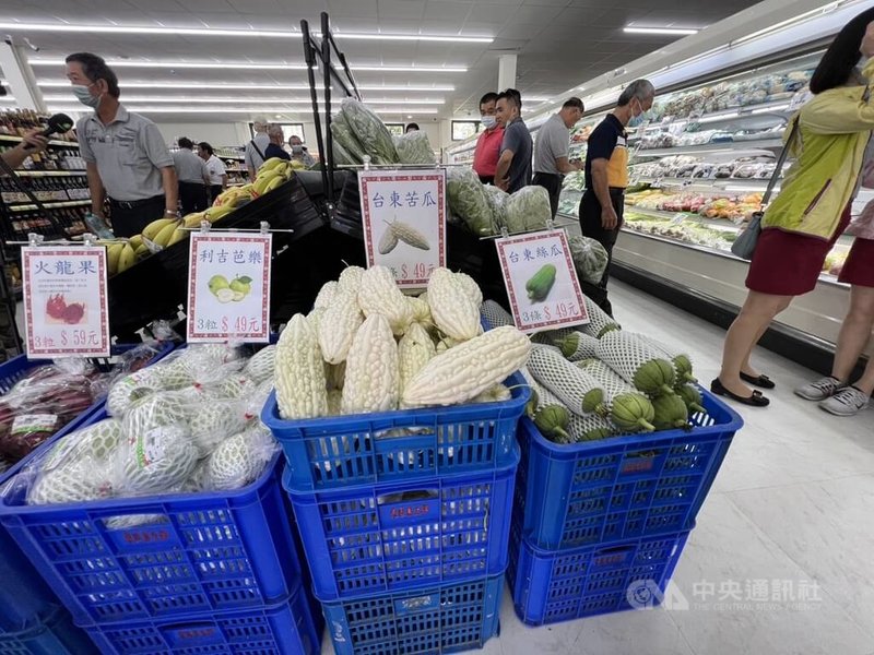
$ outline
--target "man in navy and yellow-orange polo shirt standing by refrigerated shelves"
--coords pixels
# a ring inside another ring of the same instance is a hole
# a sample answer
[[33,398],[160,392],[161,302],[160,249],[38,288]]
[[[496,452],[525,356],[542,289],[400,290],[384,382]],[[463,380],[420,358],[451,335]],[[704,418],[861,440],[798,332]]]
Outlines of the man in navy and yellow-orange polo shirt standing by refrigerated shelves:
[[583,284],[583,291],[613,315],[607,299],[610,263],[625,207],[628,186],[628,133],[625,128],[652,108],[656,88],[649,80],[635,80],[622,92],[616,108],[589,135],[586,151],[586,193],[580,200],[582,235],[607,251],[607,267],[598,286]]

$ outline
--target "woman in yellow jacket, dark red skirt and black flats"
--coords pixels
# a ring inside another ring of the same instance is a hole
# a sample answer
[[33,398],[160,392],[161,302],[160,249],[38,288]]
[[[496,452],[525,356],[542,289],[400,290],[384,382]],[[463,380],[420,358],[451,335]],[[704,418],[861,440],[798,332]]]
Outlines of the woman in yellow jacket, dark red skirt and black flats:
[[[782,190],[768,206],[756,246],[748,290],[737,318],[725,335],[722,370],[713,393],[746,405],[769,404],[760,391],[773,389],[756,372],[749,355],[773,318],[795,296],[816,286],[831,246],[850,222],[865,151],[874,130],[874,9],[850,21],[835,37],[811,79],[814,97],[792,117],[787,135],[795,163]],[[866,61],[860,70],[858,64]]]

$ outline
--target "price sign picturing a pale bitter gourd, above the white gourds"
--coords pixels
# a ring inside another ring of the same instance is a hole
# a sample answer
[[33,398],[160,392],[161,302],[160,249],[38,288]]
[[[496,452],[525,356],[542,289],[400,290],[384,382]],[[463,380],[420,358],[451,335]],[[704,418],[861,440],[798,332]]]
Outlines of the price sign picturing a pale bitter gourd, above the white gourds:
[[367,265],[391,269],[401,288],[423,288],[446,265],[446,171],[358,174]]

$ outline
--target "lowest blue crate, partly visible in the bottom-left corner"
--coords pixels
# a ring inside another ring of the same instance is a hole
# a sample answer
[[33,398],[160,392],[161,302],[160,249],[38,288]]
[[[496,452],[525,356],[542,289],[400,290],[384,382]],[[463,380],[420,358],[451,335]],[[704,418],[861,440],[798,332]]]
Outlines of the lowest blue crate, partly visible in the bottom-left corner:
[[87,635],[73,626],[62,607],[47,610],[45,619],[36,618],[23,630],[0,632],[3,655],[97,655]]

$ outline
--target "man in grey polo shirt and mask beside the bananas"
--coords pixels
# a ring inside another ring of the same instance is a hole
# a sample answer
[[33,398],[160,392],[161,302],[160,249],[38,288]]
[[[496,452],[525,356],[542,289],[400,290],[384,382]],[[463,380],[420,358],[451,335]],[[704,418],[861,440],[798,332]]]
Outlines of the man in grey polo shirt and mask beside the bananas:
[[70,55],[67,78],[79,102],[94,109],[76,123],[92,212],[105,219],[108,195],[117,237],[140,234],[162,216],[177,217],[176,169],[157,126],[118,102],[118,78],[101,57]]

